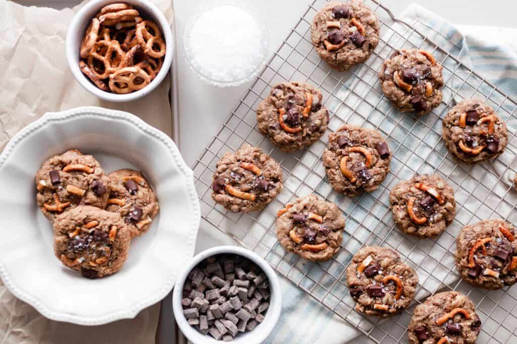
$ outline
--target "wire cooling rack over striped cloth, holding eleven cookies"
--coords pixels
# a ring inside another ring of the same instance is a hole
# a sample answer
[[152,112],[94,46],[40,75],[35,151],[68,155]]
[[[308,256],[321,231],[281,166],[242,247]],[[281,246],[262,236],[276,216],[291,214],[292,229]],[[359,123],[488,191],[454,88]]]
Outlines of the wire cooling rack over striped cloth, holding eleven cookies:
[[[517,171],[514,159],[517,103],[462,63],[457,56],[461,47],[455,45],[451,37],[443,36],[420,20],[407,24],[394,19],[376,0],[365,3],[379,17],[381,41],[366,63],[347,73],[331,70],[320,60],[311,43],[312,18],[326,1],[313,1],[300,17],[194,164],[203,225],[216,227],[264,257],[279,274],[377,343],[407,342],[406,329],[415,306],[431,294],[447,290],[467,294],[475,303],[483,321],[478,342],[517,342],[517,288],[485,291],[472,287],[461,280],[453,256],[454,240],[463,226],[488,218],[517,222],[517,210],[513,206],[517,204],[517,195],[512,191],[512,178]],[[429,34],[424,35],[422,31]],[[421,118],[394,109],[383,96],[377,78],[382,62],[394,49],[413,47],[432,52],[444,67],[443,102]],[[456,56],[451,51],[456,51]],[[346,122],[375,128],[387,137],[392,152],[391,172],[376,191],[348,198],[332,190],[321,162],[327,135],[306,151],[286,154],[258,132],[256,106],[274,84],[286,80],[306,81],[322,91],[330,112],[328,132]],[[455,161],[445,148],[441,116],[457,101],[473,96],[484,99],[506,121],[509,143],[505,153],[497,159],[468,166]],[[236,151],[245,142],[259,146],[281,163],[284,188],[261,212],[234,214],[212,201],[212,175],[224,153]],[[390,189],[417,173],[437,173],[455,190],[457,215],[446,232],[435,240],[403,235],[391,219]],[[313,263],[286,252],[276,239],[276,212],[287,202],[309,193],[336,203],[346,218],[342,249],[326,262]],[[349,296],[344,271],[363,245],[383,245],[397,250],[405,263],[418,273],[415,302],[401,315],[381,321],[353,309],[355,303]]]

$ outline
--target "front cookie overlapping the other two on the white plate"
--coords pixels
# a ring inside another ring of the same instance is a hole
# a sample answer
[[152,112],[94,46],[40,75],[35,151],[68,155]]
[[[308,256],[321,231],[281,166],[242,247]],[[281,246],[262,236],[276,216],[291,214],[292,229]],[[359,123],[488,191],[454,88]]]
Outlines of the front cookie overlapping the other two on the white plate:
[[90,279],[120,270],[130,240],[129,228],[117,212],[80,205],[54,221],[57,259]]

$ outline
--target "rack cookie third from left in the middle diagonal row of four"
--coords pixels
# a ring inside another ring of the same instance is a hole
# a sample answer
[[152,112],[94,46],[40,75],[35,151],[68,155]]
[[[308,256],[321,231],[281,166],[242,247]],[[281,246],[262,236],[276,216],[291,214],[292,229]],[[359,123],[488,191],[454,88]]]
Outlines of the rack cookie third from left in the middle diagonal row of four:
[[454,190],[436,174],[402,181],[389,194],[393,220],[404,233],[434,238],[456,214]]

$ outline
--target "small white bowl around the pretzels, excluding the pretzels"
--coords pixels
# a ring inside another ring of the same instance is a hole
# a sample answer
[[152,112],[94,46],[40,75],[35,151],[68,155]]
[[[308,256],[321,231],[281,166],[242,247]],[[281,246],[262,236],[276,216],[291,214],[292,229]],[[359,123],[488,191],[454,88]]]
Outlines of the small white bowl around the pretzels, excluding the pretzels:
[[[83,40],[84,32],[92,21],[92,18],[95,17],[102,7],[121,2],[133,5],[135,9],[139,10],[141,17],[144,19],[153,20],[160,27],[166,46],[163,65],[160,72],[158,72],[158,75],[146,87],[128,94],[117,94],[99,89],[81,72],[81,69],[79,68],[79,49],[81,47],[81,41]],[[174,37],[172,35],[169,22],[165,19],[163,13],[148,0],[92,0],[81,8],[77,14],[75,14],[72,22],[70,23],[66,37],[66,55],[70,70],[82,87],[103,100],[110,102],[128,102],[139,99],[153,91],[158,87],[158,85],[160,85],[165,76],[169,74],[172,57],[174,55]]]

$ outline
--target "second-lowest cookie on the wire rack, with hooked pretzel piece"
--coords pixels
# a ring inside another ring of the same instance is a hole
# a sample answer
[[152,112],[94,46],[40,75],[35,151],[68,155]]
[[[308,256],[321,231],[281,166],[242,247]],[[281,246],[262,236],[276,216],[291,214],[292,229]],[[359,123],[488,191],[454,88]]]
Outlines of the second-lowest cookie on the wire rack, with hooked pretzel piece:
[[346,268],[346,283],[357,312],[386,318],[401,313],[411,303],[418,275],[394,250],[367,246]]

